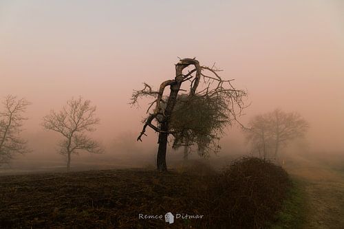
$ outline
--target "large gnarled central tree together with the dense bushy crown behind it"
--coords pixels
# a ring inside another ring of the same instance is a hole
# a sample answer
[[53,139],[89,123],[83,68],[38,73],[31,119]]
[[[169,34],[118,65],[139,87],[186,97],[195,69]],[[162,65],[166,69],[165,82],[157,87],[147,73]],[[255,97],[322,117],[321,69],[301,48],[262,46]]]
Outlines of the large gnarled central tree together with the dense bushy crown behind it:
[[[189,66],[192,68],[184,73],[183,70]],[[242,98],[246,96],[246,92],[235,89],[231,84],[232,80],[223,80],[218,74],[220,71],[214,65],[201,66],[195,58],[184,58],[175,65],[175,78],[164,81],[158,91],[154,91],[147,83],[144,83],[142,90],[133,91],[133,105],[142,96],[153,98],[138,140],[141,140],[142,135],[146,135],[147,127],[159,133],[158,171],[167,170],[166,145],[169,134],[175,138],[173,146],[189,146],[195,142],[202,151],[202,148],[211,142],[209,139],[215,138],[217,131],[222,131],[226,124],[236,120],[237,115],[241,113],[244,105]],[[179,91],[186,91],[180,89],[182,83],[188,83],[189,93],[178,95]],[[170,87],[169,96],[164,96],[167,86]],[[202,107],[202,104],[205,104],[205,107]],[[151,110],[153,105],[155,107]],[[219,109],[222,106],[224,109]],[[218,118],[217,120],[222,123],[219,124],[220,128],[206,130],[205,126],[202,127],[204,123],[200,120],[211,120],[211,117]]]

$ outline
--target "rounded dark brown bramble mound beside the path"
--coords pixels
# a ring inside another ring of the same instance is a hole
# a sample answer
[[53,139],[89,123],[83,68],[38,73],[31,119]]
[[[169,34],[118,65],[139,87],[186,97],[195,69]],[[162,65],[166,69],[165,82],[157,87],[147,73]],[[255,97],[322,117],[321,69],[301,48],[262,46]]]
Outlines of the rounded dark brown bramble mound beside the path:
[[211,225],[264,228],[281,209],[290,185],[288,173],[267,160],[235,160],[211,186]]

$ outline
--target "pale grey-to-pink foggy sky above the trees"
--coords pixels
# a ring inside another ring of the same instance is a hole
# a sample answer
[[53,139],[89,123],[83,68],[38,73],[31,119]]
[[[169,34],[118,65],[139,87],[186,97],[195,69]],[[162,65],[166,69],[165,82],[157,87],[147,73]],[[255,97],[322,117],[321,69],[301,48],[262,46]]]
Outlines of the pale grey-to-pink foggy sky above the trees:
[[341,0],[1,0],[0,96],[32,102],[27,133],[83,96],[97,106],[106,142],[142,128],[146,104],[128,105],[133,89],[158,88],[174,77],[177,56],[196,56],[247,89],[244,124],[277,107],[299,111],[312,149],[343,151],[343,12]]

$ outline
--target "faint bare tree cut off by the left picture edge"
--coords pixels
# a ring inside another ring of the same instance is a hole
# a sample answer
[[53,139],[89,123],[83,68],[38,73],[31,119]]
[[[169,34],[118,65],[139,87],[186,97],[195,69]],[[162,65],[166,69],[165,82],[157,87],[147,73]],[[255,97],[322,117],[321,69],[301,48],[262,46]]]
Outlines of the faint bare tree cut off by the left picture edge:
[[24,98],[8,95],[2,102],[3,110],[0,111],[0,166],[6,164],[16,154],[27,153],[29,150],[26,141],[20,138],[23,131],[23,116],[30,102]]

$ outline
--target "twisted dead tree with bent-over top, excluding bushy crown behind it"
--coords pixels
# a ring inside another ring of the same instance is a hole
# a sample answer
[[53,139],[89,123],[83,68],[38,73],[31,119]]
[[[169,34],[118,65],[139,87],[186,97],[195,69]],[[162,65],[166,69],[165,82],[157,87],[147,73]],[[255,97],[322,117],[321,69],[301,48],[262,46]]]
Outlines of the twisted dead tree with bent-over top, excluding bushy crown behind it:
[[[183,71],[189,66],[192,67],[189,69],[189,72]],[[208,72],[208,74],[206,74],[206,72]],[[241,113],[241,109],[244,108],[242,98],[246,96],[246,92],[235,89],[231,84],[232,80],[223,80],[219,76],[219,72],[220,70],[215,68],[214,65],[213,67],[201,66],[199,61],[195,58],[184,58],[180,59],[175,65],[175,78],[164,81],[160,85],[158,91],[154,91],[147,83],[144,83],[144,88],[142,90],[133,91],[131,97],[132,105],[136,104],[138,98],[142,96],[151,96],[154,99],[147,109],[149,116],[144,120],[142,131],[137,140],[142,141],[142,135],[146,135],[145,132],[147,127],[158,132],[158,171],[167,170],[166,146],[169,134],[178,136],[178,134],[182,133],[182,135],[179,136],[179,139],[182,140],[186,137],[185,133],[188,133],[191,129],[190,127],[177,128],[175,123],[171,123],[173,113],[175,113],[175,105],[178,103],[178,98],[182,98],[178,93],[183,83],[189,84],[189,93],[182,95],[186,98],[186,103],[189,106],[184,106],[182,109],[179,109],[179,112],[182,111],[185,116],[191,109],[195,108],[192,107],[193,101],[200,102],[206,100],[211,101],[213,105],[217,105],[217,107],[213,107],[215,110],[221,106],[226,106],[228,108],[219,109],[219,113],[217,113],[217,116],[221,117],[221,112],[226,112],[223,114],[223,119],[221,119],[221,122],[224,122],[224,124],[230,124],[233,120],[236,120],[237,116]],[[200,83],[202,84],[200,85]],[[170,88],[168,96],[164,96],[166,87]],[[152,107],[154,107],[153,111],[151,111]],[[177,118],[175,118],[175,120],[180,119],[183,119],[183,116],[177,116]],[[182,129],[184,129],[184,132],[182,132]]]

